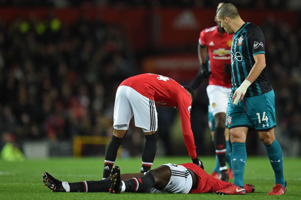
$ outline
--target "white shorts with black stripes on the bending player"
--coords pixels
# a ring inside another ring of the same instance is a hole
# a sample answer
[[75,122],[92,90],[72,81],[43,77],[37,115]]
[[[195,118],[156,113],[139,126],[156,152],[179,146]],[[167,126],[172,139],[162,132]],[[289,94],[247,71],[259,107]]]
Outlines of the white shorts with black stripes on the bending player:
[[116,92],[113,128],[128,130],[133,116],[135,116],[135,126],[142,128],[143,132],[157,130],[158,117],[155,101],[129,86],[121,85]]

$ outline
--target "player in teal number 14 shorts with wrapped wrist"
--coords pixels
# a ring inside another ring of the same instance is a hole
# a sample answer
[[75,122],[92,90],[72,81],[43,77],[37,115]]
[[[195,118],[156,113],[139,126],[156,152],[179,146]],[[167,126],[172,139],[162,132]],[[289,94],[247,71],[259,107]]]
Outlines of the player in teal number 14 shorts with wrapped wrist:
[[237,8],[226,3],[217,11],[217,19],[229,34],[231,46],[232,88],[228,103],[228,125],[232,143],[234,185],[218,194],[246,194],[243,186],[246,165],[246,136],[249,128],[256,129],[275,173],[275,186],[268,195],[286,191],[283,177],[282,149],[274,134],[276,127],[275,94],[264,68],[265,40],[261,29],[245,23]]

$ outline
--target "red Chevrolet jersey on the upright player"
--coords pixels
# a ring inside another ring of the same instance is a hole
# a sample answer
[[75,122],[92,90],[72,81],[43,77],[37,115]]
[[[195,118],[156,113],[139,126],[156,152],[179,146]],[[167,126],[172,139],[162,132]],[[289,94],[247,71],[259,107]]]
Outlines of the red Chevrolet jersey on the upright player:
[[208,47],[210,70],[209,85],[219,85],[231,88],[231,76],[226,75],[224,63],[231,64],[230,49],[232,44],[232,35],[224,32],[222,35],[217,26],[205,28],[198,39],[202,46]]

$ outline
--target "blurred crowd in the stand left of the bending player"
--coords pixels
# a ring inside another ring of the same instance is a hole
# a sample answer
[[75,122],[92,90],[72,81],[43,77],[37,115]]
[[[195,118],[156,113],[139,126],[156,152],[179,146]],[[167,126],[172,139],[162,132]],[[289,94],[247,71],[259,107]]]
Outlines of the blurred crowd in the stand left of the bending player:
[[112,134],[115,93],[134,74],[119,27],[82,17],[0,24],[0,129],[18,140]]

